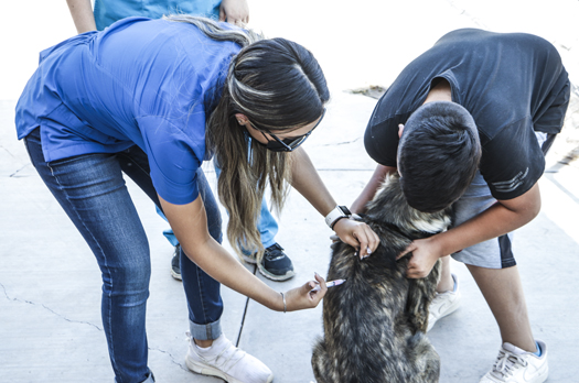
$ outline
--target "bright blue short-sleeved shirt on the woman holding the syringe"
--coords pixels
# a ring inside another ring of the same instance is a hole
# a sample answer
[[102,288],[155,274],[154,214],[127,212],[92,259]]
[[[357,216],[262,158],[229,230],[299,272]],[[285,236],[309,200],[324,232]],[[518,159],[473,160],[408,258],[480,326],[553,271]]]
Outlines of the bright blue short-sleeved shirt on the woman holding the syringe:
[[124,19],[41,53],[17,105],[18,138],[40,127],[46,162],[139,145],[159,195],[189,204],[211,155],[205,121],[239,46],[194,25]]

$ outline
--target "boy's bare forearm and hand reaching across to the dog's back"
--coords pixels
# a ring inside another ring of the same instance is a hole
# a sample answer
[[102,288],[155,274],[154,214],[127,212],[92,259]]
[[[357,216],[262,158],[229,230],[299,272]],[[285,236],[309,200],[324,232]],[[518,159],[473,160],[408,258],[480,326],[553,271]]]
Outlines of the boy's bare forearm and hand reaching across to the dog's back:
[[530,222],[540,210],[540,192],[535,184],[528,192],[496,204],[449,231],[414,241],[398,258],[412,252],[408,277],[421,278],[436,261],[473,244],[506,234]]

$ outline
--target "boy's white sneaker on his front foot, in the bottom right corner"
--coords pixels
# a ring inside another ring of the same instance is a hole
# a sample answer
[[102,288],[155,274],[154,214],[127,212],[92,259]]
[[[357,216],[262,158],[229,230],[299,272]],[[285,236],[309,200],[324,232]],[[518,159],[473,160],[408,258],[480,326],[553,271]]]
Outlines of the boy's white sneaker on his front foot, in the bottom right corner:
[[508,342],[503,343],[493,369],[480,383],[543,383],[549,375],[547,346],[537,340],[540,357],[519,349]]

